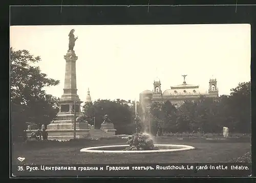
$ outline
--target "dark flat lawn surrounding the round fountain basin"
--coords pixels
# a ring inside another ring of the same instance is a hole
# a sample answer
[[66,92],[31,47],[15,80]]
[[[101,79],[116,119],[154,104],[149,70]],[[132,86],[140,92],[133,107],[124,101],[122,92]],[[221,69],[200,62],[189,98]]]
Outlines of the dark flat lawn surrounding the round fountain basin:
[[[190,163],[190,162],[232,162],[251,151],[250,138],[207,140],[203,138],[177,139],[157,137],[156,144],[184,144],[195,150],[154,154],[96,154],[80,153],[80,149],[92,146],[124,145],[127,139],[112,138],[101,140],[41,141],[28,144],[14,144],[13,164],[54,165],[54,164],[136,164],[136,163]],[[19,162],[17,157],[26,159]]]

